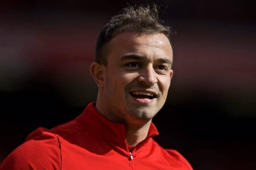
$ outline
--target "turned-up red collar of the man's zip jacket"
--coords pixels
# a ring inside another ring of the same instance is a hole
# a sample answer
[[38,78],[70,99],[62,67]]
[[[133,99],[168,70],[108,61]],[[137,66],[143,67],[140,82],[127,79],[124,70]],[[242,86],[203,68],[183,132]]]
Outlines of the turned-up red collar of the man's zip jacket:
[[[76,118],[76,121],[81,124],[89,125],[93,130],[97,131],[106,140],[113,140],[111,142],[118,142],[126,144],[125,125],[120,123],[113,123],[102,116],[95,108],[96,102],[91,102],[84,109],[83,113]],[[141,143],[147,142],[152,136],[157,136],[159,133],[155,125],[151,122],[148,130],[148,136]],[[126,147],[126,145],[125,145]]]

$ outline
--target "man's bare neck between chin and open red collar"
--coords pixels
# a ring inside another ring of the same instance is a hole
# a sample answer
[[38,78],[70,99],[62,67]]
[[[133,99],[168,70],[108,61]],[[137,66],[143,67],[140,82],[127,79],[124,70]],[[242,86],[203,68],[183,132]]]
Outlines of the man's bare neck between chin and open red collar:
[[148,136],[151,120],[142,126],[126,125],[126,143],[136,146]]

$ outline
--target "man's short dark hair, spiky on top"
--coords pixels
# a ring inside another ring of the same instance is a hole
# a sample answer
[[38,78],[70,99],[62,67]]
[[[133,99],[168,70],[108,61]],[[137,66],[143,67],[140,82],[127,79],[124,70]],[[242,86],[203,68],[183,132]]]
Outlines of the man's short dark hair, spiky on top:
[[123,8],[120,14],[111,18],[96,41],[95,60],[96,62],[107,65],[107,58],[103,55],[103,48],[117,34],[125,31],[137,32],[143,34],[163,33],[168,37],[176,34],[170,26],[166,26],[162,20],[159,20],[159,7],[156,4],[147,6],[128,6]]

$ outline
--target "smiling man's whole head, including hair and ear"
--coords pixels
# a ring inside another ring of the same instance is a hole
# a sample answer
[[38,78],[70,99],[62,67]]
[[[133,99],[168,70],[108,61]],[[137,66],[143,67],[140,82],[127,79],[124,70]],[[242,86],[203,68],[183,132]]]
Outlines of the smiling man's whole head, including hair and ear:
[[108,119],[139,125],[163,107],[173,74],[170,30],[156,6],[125,8],[103,28],[90,71],[96,108]]

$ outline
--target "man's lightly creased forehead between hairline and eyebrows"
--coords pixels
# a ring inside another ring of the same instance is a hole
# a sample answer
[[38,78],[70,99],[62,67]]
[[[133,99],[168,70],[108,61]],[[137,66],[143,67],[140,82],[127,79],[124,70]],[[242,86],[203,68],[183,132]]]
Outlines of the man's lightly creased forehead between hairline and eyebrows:
[[108,61],[112,59],[116,60],[125,54],[131,53],[147,57],[168,57],[172,60],[172,46],[166,35],[161,33],[138,34],[125,32],[117,34],[116,37],[108,42],[106,48]]

